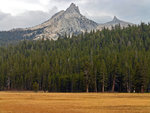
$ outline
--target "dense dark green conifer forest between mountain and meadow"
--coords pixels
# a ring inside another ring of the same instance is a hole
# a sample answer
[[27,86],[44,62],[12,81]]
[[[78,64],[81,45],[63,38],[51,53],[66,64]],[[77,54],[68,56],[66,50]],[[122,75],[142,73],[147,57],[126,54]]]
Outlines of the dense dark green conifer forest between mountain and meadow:
[[0,90],[150,92],[150,24],[0,47]]

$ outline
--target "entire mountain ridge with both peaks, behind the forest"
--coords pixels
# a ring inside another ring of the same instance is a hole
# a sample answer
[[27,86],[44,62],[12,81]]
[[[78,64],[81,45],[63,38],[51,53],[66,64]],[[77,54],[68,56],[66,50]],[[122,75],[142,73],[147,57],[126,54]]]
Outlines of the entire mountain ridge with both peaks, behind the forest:
[[74,3],[70,5],[65,11],[56,13],[51,19],[46,22],[25,29],[13,29],[10,31],[0,32],[0,45],[8,42],[16,42],[23,39],[39,40],[39,39],[53,39],[58,37],[78,35],[82,32],[90,32],[91,30],[102,30],[104,27],[111,29],[112,26],[120,24],[121,27],[133,25],[129,22],[119,20],[117,17],[111,22],[98,24],[80,13],[78,6]]

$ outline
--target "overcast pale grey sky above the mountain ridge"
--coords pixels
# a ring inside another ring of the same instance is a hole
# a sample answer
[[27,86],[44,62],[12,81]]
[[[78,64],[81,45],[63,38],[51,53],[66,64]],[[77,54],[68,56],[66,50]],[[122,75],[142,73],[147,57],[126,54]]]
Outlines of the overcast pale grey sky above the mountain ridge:
[[0,30],[41,24],[71,3],[97,23],[114,16],[135,24],[150,22],[150,0],[0,0]]

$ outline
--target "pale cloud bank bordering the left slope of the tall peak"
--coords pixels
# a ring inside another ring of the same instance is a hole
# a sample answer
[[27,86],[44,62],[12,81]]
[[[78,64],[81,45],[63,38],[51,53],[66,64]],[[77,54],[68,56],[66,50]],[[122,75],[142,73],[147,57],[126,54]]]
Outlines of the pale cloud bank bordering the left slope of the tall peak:
[[26,11],[17,16],[0,12],[0,30],[32,27],[48,20],[57,11],[57,7],[53,7],[49,12]]

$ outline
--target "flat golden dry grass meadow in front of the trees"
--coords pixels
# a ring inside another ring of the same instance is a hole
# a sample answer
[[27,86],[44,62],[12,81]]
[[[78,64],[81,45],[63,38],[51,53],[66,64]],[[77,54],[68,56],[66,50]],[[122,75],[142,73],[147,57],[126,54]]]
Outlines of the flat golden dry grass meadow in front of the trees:
[[0,92],[0,113],[150,113],[150,94]]

